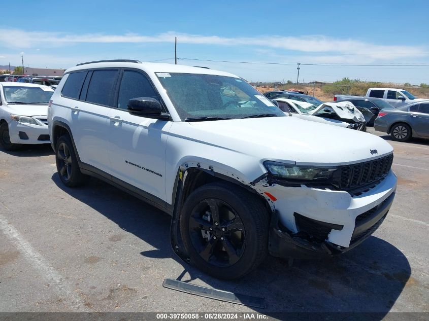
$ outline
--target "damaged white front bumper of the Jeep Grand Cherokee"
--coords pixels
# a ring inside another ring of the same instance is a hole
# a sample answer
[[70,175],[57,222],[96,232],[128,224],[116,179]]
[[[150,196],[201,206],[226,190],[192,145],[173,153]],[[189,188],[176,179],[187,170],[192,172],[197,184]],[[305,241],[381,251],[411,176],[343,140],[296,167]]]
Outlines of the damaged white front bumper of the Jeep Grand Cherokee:
[[[287,199],[285,193],[283,202],[274,202],[269,232],[270,254],[280,258],[305,259],[349,251],[367,239],[384,221],[393,202],[395,188],[396,176],[390,171],[376,188],[358,197],[347,192],[306,187],[288,189],[295,195]],[[270,189],[270,193],[278,195],[274,189]],[[302,204],[298,202],[299,194],[303,197]]]

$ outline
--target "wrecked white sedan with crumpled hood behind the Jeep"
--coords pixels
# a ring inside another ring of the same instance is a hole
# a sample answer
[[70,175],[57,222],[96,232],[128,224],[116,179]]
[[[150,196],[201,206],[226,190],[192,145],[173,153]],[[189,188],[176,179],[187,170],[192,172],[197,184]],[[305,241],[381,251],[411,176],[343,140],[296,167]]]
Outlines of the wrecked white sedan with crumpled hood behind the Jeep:
[[301,119],[365,131],[366,122],[362,113],[349,102],[324,102],[319,106],[304,101],[276,98],[279,108]]

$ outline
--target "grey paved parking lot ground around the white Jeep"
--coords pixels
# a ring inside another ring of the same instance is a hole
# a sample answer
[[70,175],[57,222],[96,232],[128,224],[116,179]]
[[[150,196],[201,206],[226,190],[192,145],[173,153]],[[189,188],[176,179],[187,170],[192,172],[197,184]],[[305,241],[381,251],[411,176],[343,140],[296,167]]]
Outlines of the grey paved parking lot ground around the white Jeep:
[[[0,311],[427,312],[429,142],[389,142],[398,191],[373,236],[333,259],[289,267],[269,258],[238,281],[178,259],[170,217],[156,208],[96,179],[61,185],[50,146],[0,150]],[[166,277],[264,297],[268,307],[162,288]]]

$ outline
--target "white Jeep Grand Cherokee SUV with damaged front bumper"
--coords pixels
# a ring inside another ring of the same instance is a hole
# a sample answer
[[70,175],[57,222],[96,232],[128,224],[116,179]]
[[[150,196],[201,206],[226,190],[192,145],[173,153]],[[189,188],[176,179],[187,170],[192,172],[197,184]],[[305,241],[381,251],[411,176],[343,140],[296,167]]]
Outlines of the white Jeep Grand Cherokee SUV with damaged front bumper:
[[109,60],[65,72],[48,110],[64,185],[98,177],[170,213],[174,251],[237,278],[270,253],[340,254],[382,223],[392,147],[286,116],[240,77]]

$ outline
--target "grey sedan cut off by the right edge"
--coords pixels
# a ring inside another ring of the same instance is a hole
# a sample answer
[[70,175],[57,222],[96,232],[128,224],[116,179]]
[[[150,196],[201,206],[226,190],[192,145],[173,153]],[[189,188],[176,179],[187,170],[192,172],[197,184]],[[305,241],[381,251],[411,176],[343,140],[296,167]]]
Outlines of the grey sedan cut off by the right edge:
[[398,141],[411,137],[429,138],[429,100],[381,110],[375,119],[374,129],[384,131]]

